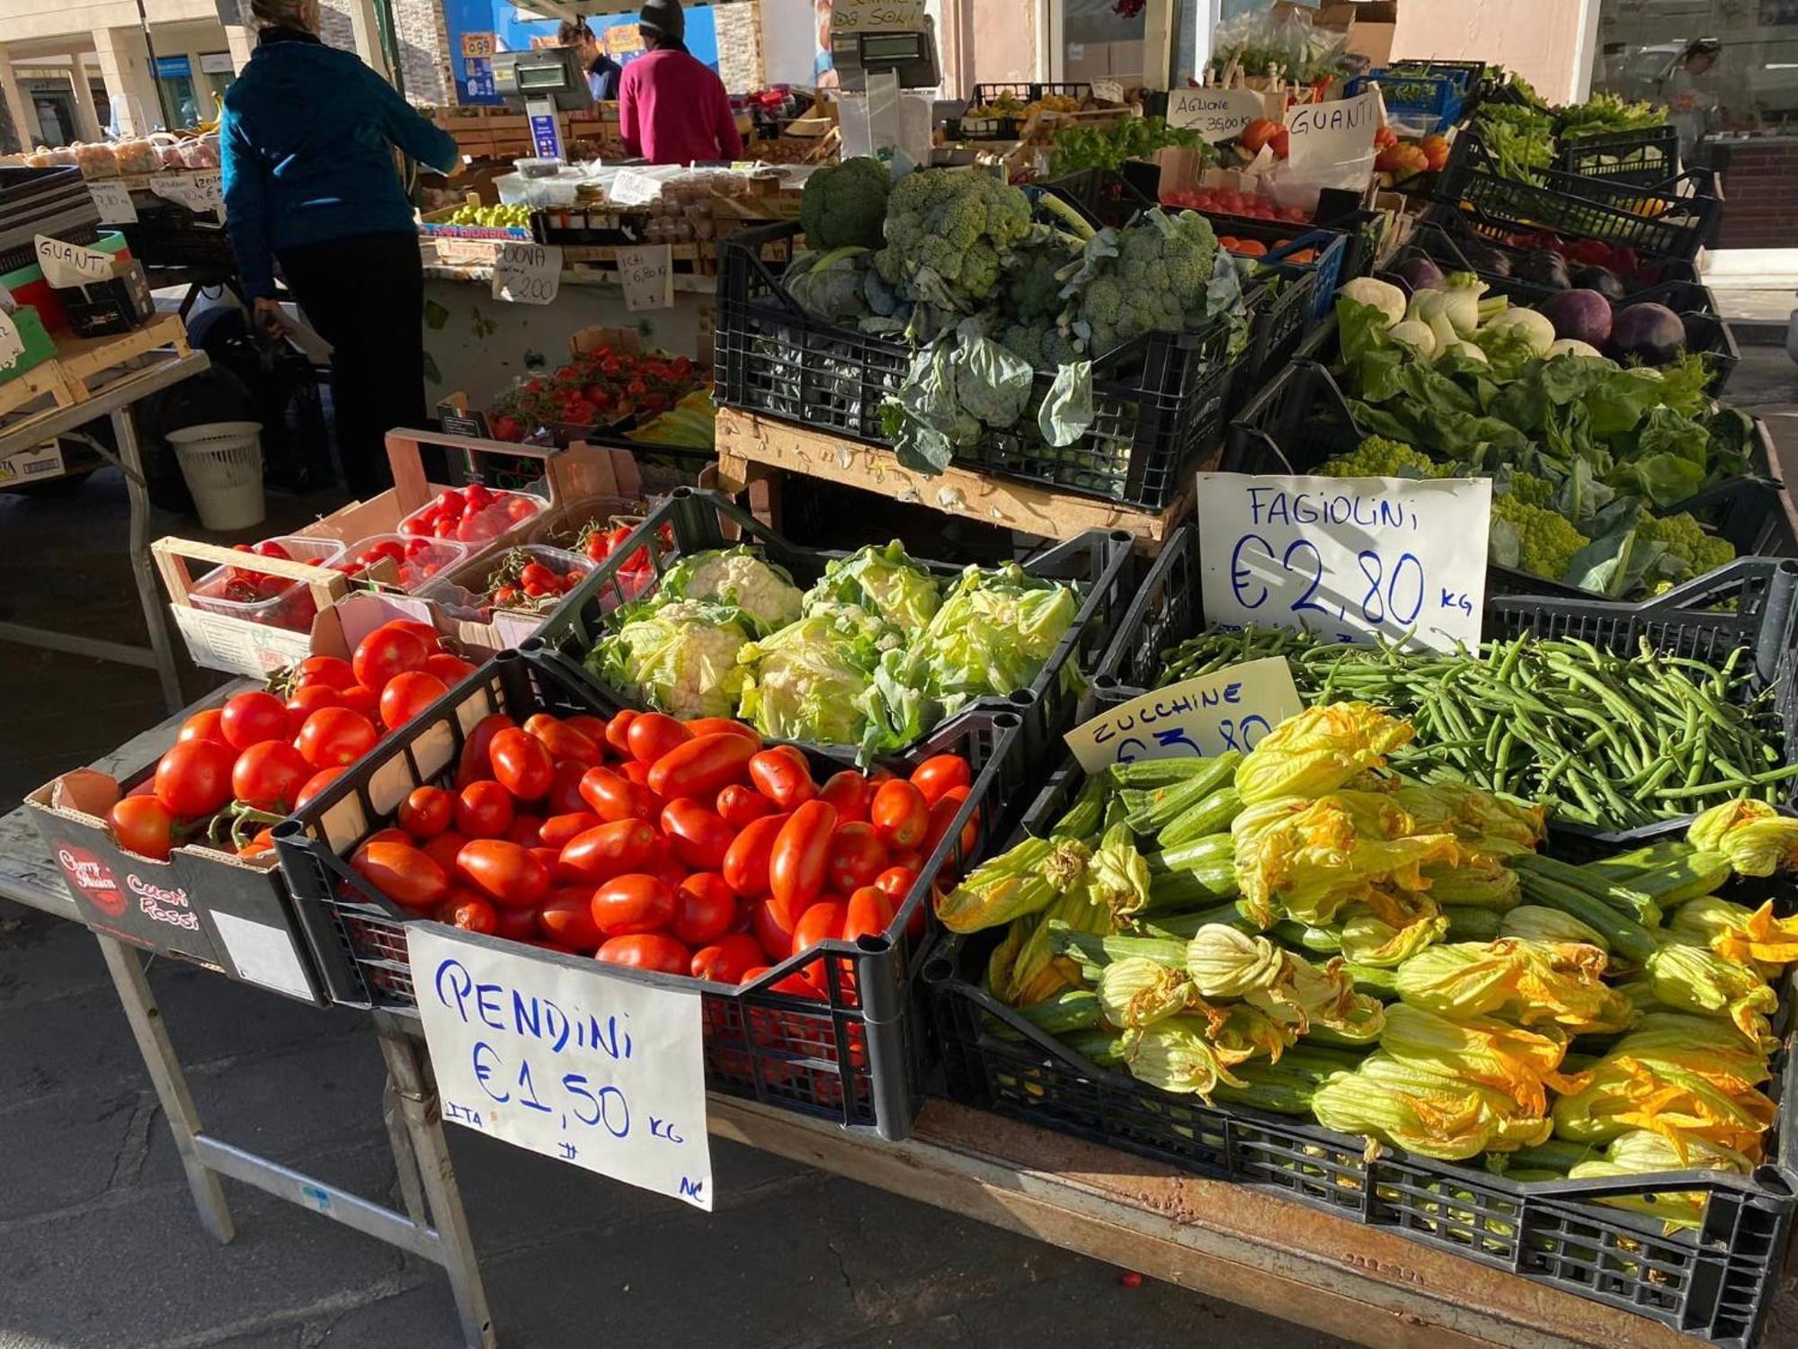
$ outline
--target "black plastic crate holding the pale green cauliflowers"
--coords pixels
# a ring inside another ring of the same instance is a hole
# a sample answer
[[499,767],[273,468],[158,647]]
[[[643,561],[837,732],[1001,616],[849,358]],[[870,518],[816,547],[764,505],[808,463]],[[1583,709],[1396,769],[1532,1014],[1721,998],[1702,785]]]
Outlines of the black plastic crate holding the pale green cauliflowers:
[[[672,545],[667,541],[669,538],[672,538]],[[770,563],[784,567],[793,576],[793,583],[802,588],[823,576],[827,563],[847,556],[845,552],[789,543],[725,496],[694,487],[676,487],[644,518],[631,538],[568,592],[561,606],[543,621],[536,637],[523,644],[525,658],[556,673],[572,696],[584,698],[588,701],[584,710],[610,716],[624,705],[622,696],[601,685],[583,664],[586,653],[606,633],[606,615],[629,599],[654,594],[663,572],[681,556],[725,549],[734,543],[753,543]],[[1048,545],[1023,563],[1032,576],[1072,581],[1081,588],[1081,610],[1054,655],[1045,662],[1036,683],[1009,700],[989,700],[989,705],[1003,705],[1019,716],[1023,734],[1010,748],[1032,770],[1046,766],[1050,746],[1061,732],[1073,725],[1086,673],[1099,664],[1124,617],[1129,586],[1135,579],[1133,543],[1135,538],[1120,529],[1090,529],[1072,540]],[[647,554],[651,574],[620,576],[620,568],[638,554],[638,549]],[[919,558],[919,563],[942,577],[955,577],[962,572],[962,567],[955,563],[924,558]],[[931,736],[971,714],[966,709],[957,712]],[[852,763],[856,757],[854,745],[807,743],[802,748],[841,763]]]

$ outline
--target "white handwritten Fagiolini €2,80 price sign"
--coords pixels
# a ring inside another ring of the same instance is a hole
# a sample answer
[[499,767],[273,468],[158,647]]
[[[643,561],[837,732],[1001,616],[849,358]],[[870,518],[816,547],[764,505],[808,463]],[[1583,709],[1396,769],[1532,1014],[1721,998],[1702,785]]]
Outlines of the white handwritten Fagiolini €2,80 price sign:
[[1208,621],[1480,646],[1491,478],[1199,473],[1197,496]]

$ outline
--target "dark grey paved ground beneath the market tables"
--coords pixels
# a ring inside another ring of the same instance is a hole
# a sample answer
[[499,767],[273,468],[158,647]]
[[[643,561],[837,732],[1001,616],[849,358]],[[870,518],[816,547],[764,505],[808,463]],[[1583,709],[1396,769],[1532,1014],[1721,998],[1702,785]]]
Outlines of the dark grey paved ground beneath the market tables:
[[[277,502],[270,532],[322,502]],[[140,640],[124,489],[0,493],[0,617]],[[191,531],[158,518],[156,532]],[[20,567],[31,559],[29,570]],[[212,676],[189,671],[198,696]],[[0,644],[0,809],[164,712],[147,671]],[[151,984],[219,1137],[397,1203],[381,1058],[318,1013],[191,968]],[[1162,1345],[1329,1340],[1172,1286],[714,1142],[705,1216],[450,1130],[502,1345]],[[435,1349],[433,1266],[225,1182],[237,1239],[200,1228],[93,941],[0,901],[0,1349]]]

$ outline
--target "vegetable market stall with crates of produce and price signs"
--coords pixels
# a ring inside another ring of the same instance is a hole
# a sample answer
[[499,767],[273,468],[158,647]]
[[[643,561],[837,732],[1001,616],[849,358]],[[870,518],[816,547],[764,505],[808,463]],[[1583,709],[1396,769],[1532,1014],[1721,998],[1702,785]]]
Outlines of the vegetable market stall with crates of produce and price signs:
[[[266,687],[32,793],[5,890],[135,1025],[128,946],[370,1013],[433,1228],[403,1153],[405,1218],[320,1193],[469,1344],[441,1121],[699,1209],[732,1137],[1366,1344],[1789,1324],[1798,540],[1721,201],[1645,110],[1233,36],[1165,117],[982,92],[1003,173],[726,192],[710,270],[687,171],[451,209],[433,331],[484,277],[550,374],[437,356],[450,480],[396,432],[392,493],[158,545]],[[656,327],[565,324],[595,273]],[[214,1171],[311,1193],[140,1045],[216,1230]]]

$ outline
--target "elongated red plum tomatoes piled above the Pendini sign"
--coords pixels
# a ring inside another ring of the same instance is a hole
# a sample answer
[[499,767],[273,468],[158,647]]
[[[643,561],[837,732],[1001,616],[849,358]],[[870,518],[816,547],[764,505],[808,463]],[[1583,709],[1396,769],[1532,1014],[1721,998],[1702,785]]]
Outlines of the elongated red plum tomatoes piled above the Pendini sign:
[[[471,932],[741,984],[822,941],[885,934],[967,793],[949,754],[910,779],[820,784],[804,754],[741,721],[496,712],[453,779],[415,788],[351,867]],[[964,854],[973,835],[969,817]],[[777,987],[822,996],[823,964]]]

